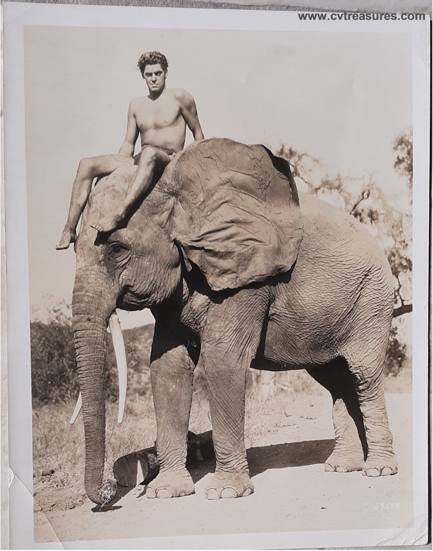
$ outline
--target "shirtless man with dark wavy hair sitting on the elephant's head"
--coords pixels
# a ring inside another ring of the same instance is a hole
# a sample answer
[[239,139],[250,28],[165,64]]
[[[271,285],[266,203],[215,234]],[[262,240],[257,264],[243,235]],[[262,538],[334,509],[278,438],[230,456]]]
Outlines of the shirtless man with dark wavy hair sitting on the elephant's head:
[[146,52],[140,56],[138,67],[149,88],[149,95],[131,100],[127,135],[117,155],[100,155],[80,161],[68,220],[56,249],[68,249],[76,240],[76,226],[95,177],[111,174],[124,163],[135,164],[133,155],[139,133],[141,157],[129,182],[127,196],[114,212],[92,220],[90,225],[98,231],[116,228],[136,199],[145,196],[155,171],[162,172],[172,156],[183,149],[187,125],[195,141],[204,139],[193,96],[180,88],[166,88],[166,57],[160,52]]

